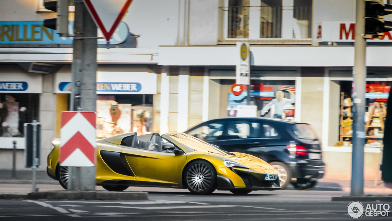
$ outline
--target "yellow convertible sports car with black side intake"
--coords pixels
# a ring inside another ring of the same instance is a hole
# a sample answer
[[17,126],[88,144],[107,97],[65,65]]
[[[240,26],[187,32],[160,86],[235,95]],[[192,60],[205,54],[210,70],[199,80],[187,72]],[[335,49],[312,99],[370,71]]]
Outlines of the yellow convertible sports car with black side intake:
[[[68,168],[59,165],[59,144],[53,145],[47,174],[67,189]],[[277,178],[278,172],[257,157],[229,153],[188,134],[129,133],[97,141],[96,184],[108,191],[148,186],[247,194],[280,189]]]

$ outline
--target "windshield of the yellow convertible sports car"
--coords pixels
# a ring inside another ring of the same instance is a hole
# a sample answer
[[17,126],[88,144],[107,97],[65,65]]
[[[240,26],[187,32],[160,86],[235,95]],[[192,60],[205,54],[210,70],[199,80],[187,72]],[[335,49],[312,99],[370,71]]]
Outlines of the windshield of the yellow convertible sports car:
[[209,143],[201,141],[196,137],[192,137],[191,135],[188,134],[174,134],[174,135],[170,135],[170,137],[194,151],[205,151],[205,152],[220,153],[223,155],[227,155],[227,153],[225,153],[224,151],[212,146]]

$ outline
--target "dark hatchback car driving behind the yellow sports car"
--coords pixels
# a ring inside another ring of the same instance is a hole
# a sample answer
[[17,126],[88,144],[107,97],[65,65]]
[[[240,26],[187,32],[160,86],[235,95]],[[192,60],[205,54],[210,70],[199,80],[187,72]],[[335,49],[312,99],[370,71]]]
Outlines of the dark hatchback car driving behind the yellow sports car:
[[279,173],[282,189],[314,187],[323,177],[321,142],[307,123],[272,118],[222,118],[205,121],[184,133],[220,149],[254,155]]

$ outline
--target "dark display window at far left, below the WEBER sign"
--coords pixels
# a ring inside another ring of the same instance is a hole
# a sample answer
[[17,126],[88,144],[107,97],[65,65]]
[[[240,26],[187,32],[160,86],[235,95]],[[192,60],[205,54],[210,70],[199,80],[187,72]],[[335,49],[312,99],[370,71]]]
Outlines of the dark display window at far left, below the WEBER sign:
[[24,137],[23,125],[38,118],[38,104],[38,94],[0,94],[0,137]]

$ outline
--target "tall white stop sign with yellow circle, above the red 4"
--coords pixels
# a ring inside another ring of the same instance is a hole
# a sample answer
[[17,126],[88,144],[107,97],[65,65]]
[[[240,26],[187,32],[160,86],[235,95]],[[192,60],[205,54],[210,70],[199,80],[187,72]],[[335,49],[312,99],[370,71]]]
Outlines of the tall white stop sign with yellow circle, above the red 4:
[[[237,42],[236,84],[249,84],[250,80],[250,46],[249,43]],[[239,53],[238,53],[239,52]],[[238,56],[240,55],[240,56]]]

